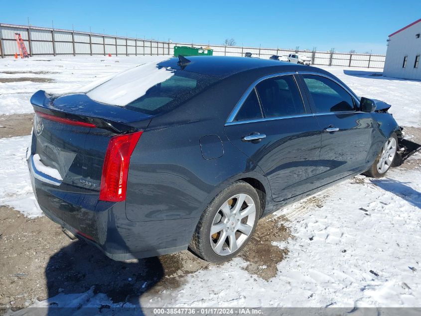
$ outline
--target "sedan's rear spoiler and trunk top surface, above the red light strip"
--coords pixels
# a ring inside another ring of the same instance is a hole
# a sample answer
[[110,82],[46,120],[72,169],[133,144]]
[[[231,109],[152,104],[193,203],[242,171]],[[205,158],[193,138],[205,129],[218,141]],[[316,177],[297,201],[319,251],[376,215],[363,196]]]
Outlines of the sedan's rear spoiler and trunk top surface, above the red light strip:
[[86,94],[57,97],[39,90],[32,95],[30,102],[35,111],[92,123],[98,128],[119,134],[143,130],[152,119],[152,116],[147,114],[95,102]]

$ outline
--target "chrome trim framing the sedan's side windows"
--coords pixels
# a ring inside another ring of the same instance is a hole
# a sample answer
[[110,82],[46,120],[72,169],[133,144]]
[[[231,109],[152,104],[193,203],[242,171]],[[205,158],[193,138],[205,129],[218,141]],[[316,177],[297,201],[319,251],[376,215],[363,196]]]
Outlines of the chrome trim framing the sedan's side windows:
[[[280,76],[287,76],[287,75],[294,75],[294,74],[310,74],[310,75],[316,75],[316,76],[325,77],[325,78],[327,78],[329,80],[332,80],[333,82],[335,82],[336,84],[338,84],[340,87],[342,87],[346,92],[348,92],[351,95],[351,97],[353,97],[355,99],[355,101],[357,102],[357,104],[360,102],[360,99],[355,95],[354,92],[352,92],[350,89],[348,89],[347,87],[345,87],[342,83],[340,83],[335,78],[332,78],[331,76],[329,76],[327,74],[320,73],[320,72],[313,72],[313,71],[286,71],[286,72],[277,72],[277,73],[272,73],[272,74],[269,74],[269,75],[260,77],[259,79],[257,79],[256,81],[254,81],[250,85],[250,87],[246,90],[246,92],[244,92],[243,96],[237,102],[237,104],[234,107],[234,109],[231,111],[230,116],[228,116],[228,119],[225,122],[225,126],[227,126],[227,125],[236,125],[236,124],[245,124],[245,123],[263,122],[263,121],[273,121],[273,120],[280,120],[280,119],[285,119],[285,118],[306,117],[306,116],[362,113],[361,111],[359,111],[358,109],[356,109],[355,111],[339,111],[339,112],[323,112],[323,113],[304,113],[304,114],[288,115],[288,116],[278,116],[278,117],[262,117],[262,118],[258,118],[258,119],[245,120],[245,121],[234,121],[237,113],[241,109],[241,106],[246,101],[247,97],[252,92],[252,90],[256,88],[256,85],[258,85],[263,80],[266,80],[266,79],[269,79],[269,78],[280,77]],[[295,78],[294,78],[294,80],[295,80]],[[295,81],[295,84],[297,84],[296,81]],[[298,91],[301,94],[301,91],[299,90],[298,85],[297,85],[297,88],[298,88]],[[257,92],[257,91],[255,90],[255,92]],[[302,95],[301,95],[301,99],[302,99]],[[304,100],[302,100],[302,102],[304,104]]]

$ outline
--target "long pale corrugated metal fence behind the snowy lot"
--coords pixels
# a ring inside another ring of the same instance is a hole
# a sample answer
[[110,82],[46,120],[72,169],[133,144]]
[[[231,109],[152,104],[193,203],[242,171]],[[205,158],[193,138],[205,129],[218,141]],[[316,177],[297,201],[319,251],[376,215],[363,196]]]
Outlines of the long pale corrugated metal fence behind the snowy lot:
[[[53,29],[47,27],[23,26],[0,23],[1,57],[17,52],[15,33],[20,33],[30,55],[173,55],[174,46],[207,47],[208,44],[173,43],[150,39],[112,36],[105,34]],[[269,58],[272,55],[288,55],[298,52],[311,58],[313,65],[383,68],[385,55],[339,53],[333,51],[309,51],[281,48],[257,48],[209,45],[214,55],[254,56]]]

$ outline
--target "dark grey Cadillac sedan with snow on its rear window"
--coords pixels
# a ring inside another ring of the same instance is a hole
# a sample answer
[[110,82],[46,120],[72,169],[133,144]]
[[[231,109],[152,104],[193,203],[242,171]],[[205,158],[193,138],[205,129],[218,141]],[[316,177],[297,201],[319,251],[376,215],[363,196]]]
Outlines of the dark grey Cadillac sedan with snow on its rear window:
[[31,103],[39,206],[115,260],[187,248],[229,260],[261,217],[383,176],[402,137],[390,105],[322,69],[258,58],[180,56]]

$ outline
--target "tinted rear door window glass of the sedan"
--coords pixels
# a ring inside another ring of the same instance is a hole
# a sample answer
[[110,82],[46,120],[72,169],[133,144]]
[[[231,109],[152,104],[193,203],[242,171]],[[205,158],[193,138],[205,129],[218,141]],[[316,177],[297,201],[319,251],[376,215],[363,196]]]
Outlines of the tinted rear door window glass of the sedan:
[[265,117],[305,113],[301,95],[291,75],[266,79],[256,86]]

